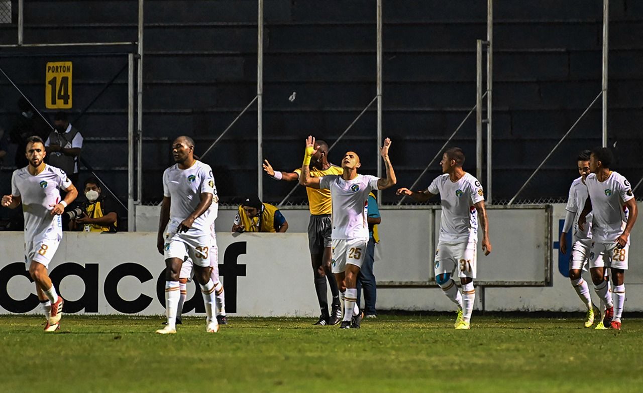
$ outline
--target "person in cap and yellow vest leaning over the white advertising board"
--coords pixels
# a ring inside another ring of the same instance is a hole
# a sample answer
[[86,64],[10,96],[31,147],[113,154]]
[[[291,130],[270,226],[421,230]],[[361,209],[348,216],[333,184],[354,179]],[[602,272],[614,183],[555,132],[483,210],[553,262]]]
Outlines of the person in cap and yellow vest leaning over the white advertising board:
[[288,222],[276,206],[262,203],[257,196],[246,198],[232,225],[232,232],[285,232]]

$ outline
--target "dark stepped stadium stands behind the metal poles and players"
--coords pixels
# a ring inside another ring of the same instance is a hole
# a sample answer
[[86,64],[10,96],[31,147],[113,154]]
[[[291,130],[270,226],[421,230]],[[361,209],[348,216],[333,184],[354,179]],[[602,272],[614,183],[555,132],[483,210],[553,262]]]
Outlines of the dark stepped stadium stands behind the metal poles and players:
[[[15,2],[14,2],[15,3]],[[475,104],[475,40],[484,39],[486,1],[385,1],[383,129],[393,139],[400,186],[409,186]],[[610,146],[615,168],[640,177],[643,3],[610,2]],[[601,0],[498,0],[494,9],[494,200],[508,200],[601,90]],[[329,143],[376,94],[376,2],[267,0],[264,55],[264,157],[275,168],[300,165],[303,139]],[[14,16],[15,9],[14,6]],[[144,178],[146,201],[160,200],[170,140],[192,135],[203,152],[256,93],[255,0],[145,2]],[[136,40],[136,1],[30,1],[25,42]],[[15,43],[14,24],[0,42]],[[86,48],[74,48],[81,53]],[[114,51],[102,48],[102,52]],[[123,55],[55,55],[61,49],[3,49],[39,57],[0,57],[1,67],[44,108],[44,63],[74,62],[78,113],[125,64]],[[46,55],[46,53],[51,53]],[[0,121],[10,127],[17,92],[2,80]],[[127,194],[127,74],[87,111],[78,128],[84,157],[120,196]],[[296,92],[296,99],[288,98]],[[256,193],[257,116],[251,109],[204,161],[223,202]],[[600,144],[600,100],[519,199],[565,198],[577,151]],[[475,123],[453,141],[475,173]],[[377,164],[374,107],[331,152],[356,150],[363,173]],[[12,152],[13,154],[13,152]],[[13,161],[5,160],[2,184]],[[421,180],[439,174],[437,163]],[[483,181],[484,184],[484,181]],[[264,199],[291,189],[264,182]],[[293,202],[303,202],[298,190]],[[385,192],[383,202],[394,202]]]

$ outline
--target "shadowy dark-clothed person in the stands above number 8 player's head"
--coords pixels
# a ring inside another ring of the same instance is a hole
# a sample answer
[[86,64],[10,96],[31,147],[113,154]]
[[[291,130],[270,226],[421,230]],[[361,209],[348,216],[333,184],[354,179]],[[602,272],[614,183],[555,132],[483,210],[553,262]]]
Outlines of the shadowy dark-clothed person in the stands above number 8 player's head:
[[24,97],[18,100],[18,109],[20,113],[9,131],[9,139],[11,143],[17,144],[15,148],[15,166],[20,169],[29,164],[24,153],[27,149],[27,138],[37,135],[45,139],[49,135],[51,128],[39,114],[33,113],[32,105]]

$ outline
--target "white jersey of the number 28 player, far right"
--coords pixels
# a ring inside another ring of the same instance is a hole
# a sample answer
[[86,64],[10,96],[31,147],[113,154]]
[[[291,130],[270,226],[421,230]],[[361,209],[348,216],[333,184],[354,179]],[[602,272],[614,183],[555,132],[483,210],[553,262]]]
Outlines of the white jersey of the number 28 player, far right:
[[607,180],[599,182],[595,173],[590,173],[585,184],[592,200],[593,240],[615,241],[623,233],[628,219],[623,204],[634,198],[628,179],[612,171]]

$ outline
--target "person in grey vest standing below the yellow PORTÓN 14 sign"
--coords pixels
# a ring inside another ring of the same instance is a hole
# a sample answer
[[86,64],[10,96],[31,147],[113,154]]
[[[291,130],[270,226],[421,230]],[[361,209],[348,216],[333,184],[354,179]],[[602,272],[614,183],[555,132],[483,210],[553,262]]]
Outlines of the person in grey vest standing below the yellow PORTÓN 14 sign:
[[53,120],[55,130],[44,143],[49,164],[67,173],[73,184],[78,183],[78,157],[82,150],[82,135],[69,123],[65,112],[58,112]]

